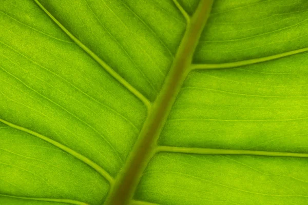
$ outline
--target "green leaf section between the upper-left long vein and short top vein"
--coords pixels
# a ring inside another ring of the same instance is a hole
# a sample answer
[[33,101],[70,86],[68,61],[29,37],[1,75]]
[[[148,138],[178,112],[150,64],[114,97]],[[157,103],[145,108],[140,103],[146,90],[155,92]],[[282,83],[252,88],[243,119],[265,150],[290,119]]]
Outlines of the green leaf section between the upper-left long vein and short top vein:
[[171,1],[40,2],[114,71],[155,99],[185,29]]

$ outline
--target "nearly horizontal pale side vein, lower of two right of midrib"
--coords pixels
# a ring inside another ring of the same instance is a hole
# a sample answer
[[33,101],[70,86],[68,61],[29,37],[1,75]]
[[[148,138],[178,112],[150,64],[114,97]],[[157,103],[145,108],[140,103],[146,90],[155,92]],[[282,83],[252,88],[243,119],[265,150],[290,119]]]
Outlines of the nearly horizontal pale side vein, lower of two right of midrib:
[[188,147],[157,146],[155,151],[156,152],[186,153],[186,154],[261,155],[261,156],[308,158],[308,153],[272,152],[272,151],[259,151],[259,150],[258,151],[256,151],[256,150],[227,150],[227,149],[211,149],[211,148],[188,148]]

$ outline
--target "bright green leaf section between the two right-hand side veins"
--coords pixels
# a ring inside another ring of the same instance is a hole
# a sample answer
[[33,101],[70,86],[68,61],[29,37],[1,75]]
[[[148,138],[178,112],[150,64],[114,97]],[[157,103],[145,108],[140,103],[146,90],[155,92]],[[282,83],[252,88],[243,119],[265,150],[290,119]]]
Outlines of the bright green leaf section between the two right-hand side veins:
[[161,134],[166,146],[308,152],[308,53],[192,71]]

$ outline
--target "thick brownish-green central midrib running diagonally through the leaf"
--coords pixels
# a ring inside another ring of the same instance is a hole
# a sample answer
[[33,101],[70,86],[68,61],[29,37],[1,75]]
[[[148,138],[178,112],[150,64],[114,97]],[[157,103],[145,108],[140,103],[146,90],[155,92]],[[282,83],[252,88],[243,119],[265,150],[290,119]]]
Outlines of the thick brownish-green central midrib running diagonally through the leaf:
[[174,104],[182,83],[189,72],[192,55],[209,16],[212,3],[213,0],[201,1],[195,14],[191,17],[163,89],[143,125],[139,141],[127,160],[127,165],[117,180],[118,185],[109,195],[108,204],[123,205],[132,197],[141,173],[153,151],[152,145],[156,143],[171,106]]

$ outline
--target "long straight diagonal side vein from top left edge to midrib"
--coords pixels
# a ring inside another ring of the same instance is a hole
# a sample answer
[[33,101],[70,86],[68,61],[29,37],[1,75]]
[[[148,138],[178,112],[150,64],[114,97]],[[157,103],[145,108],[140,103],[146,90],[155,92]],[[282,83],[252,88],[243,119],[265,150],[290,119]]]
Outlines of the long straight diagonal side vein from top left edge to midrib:
[[78,46],[88,53],[98,64],[100,64],[112,77],[117,79],[127,90],[139,98],[147,107],[148,112],[151,110],[151,102],[136,88],[130,85],[122,76],[115,72],[108,64],[105,63],[97,54],[86,47],[78,38],[71,34],[38,0],[33,0],[52,20],[58,25]]

